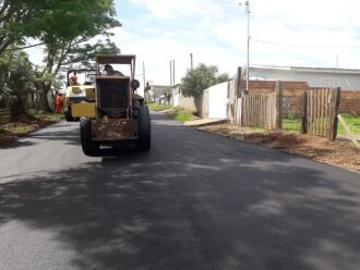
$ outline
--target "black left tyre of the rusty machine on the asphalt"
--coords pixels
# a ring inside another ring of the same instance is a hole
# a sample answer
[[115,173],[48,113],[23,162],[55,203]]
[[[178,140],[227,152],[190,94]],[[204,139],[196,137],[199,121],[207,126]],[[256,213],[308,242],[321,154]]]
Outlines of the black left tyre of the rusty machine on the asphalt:
[[80,119],[80,137],[83,152],[86,156],[98,152],[100,145],[92,139],[92,121],[89,119]]

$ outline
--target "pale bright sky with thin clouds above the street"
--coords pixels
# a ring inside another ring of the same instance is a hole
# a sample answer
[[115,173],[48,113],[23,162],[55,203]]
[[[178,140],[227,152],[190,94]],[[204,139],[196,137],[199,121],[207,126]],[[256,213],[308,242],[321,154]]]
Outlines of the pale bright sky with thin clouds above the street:
[[[360,1],[250,0],[250,64],[360,69]],[[241,3],[241,4],[239,4]],[[136,54],[136,77],[176,83],[199,63],[233,76],[247,63],[244,1],[115,0],[122,27],[111,38]],[[29,50],[39,61],[40,48]]]

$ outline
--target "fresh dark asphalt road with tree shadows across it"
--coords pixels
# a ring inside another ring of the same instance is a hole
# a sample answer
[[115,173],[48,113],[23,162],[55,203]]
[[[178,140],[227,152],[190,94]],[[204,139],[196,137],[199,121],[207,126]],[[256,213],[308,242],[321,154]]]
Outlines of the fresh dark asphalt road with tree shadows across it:
[[152,119],[148,154],[1,148],[0,269],[360,269],[359,173]]

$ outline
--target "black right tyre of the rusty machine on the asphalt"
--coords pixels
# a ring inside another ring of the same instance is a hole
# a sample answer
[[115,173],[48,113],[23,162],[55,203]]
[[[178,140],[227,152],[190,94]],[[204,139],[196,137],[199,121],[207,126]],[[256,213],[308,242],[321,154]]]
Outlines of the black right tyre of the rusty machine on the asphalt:
[[137,114],[137,142],[141,151],[148,151],[152,146],[152,123],[147,106],[141,106]]

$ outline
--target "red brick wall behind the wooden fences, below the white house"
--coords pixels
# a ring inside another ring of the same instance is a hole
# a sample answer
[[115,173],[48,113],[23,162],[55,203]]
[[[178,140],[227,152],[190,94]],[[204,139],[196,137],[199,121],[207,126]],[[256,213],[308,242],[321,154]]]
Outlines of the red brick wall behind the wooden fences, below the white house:
[[[276,81],[250,81],[250,93],[271,93],[275,90]],[[245,81],[240,87],[245,89]],[[283,106],[285,115],[299,115],[301,109],[301,94],[309,87],[307,82],[283,82]],[[319,88],[319,87],[317,87]],[[355,112],[360,115],[360,89],[341,90],[340,112]]]

